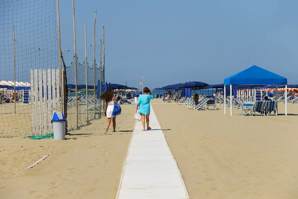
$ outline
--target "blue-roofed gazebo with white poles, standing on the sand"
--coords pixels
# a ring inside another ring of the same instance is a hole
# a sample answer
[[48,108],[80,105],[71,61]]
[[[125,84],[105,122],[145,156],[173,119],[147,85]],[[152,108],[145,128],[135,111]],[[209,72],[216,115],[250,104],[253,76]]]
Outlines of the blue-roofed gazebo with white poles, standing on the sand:
[[[232,115],[232,96],[233,90],[232,86],[276,86],[276,91],[278,91],[278,86],[285,86],[287,91],[287,78],[284,78],[280,75],[267,71],[258,66],[252,66],[248,69],[245,69],[239,73],[236,73],[228,78],[224,79],[224,114],[226,114],[226,86],[229,86],[230,92],[230,115]],[[287,92],[286,95],[286,115],[287,115]]]

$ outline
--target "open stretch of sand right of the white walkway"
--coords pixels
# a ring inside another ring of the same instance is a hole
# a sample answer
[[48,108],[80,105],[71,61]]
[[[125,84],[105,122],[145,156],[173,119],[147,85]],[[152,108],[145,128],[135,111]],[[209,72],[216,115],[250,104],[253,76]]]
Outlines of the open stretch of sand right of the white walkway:
[[[298,198],[298,105],[288,116],[152,106],[191,199]],[[278,107],[283,114],[285,104]]]

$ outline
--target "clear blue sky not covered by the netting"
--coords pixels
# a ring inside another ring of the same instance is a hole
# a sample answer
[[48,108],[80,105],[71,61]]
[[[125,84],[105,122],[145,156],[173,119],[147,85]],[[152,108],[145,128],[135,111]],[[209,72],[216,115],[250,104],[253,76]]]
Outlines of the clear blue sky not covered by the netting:
[[[295,84],[297,0],[75,0],[77,47],[105,26],[106,80],[140,87],[223,83],[257,65]],[[73,49],[72,0],[60,0],[62,49]]]

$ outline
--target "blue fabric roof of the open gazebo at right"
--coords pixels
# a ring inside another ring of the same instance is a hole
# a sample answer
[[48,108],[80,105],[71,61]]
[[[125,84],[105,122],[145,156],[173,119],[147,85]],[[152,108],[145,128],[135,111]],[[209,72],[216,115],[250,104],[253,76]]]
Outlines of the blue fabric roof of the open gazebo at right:
[[252,66],[224,79],[224,85],[287,85],[287,78]]

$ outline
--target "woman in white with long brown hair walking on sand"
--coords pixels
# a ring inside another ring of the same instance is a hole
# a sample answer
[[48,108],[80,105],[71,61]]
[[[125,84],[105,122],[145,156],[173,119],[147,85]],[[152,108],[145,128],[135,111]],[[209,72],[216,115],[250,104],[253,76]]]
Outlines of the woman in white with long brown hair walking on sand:
[[114,104],[115,104],[115,94],[112,89],[108,89],[100,95],[100,100],[105,101],[105,111],[104,115],[108,118],[106,133],[109,130],[111,121],[113,121],[113,132],[116,132],[116,117],[112,117]]

